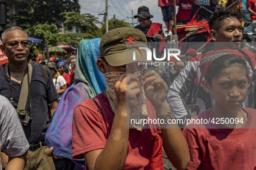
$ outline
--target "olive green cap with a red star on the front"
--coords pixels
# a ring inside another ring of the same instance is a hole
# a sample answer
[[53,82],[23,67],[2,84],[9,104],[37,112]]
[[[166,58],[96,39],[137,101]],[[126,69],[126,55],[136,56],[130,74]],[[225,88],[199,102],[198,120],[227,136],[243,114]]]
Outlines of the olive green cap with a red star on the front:
[[[146,50],[139,49],[139,47],[147,47],[146,42],[145,34],[139,29],[129,27],[112,29],[101,38],[100,57],[105,57],[110,66],[123,66],[135,61],[152,63],[147,60]],[[133,52],[136,55],[135,60]]]

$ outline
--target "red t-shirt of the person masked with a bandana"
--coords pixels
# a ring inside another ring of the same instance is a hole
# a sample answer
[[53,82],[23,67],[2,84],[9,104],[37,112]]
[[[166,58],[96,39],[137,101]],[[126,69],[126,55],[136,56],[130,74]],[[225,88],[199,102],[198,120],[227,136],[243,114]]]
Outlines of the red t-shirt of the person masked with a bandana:
[[[109,138],[115,114],[103,92],[98,94],[94,100],[99,104],[101,114],[92,99],[81,102],[74,110],[72,126],[73,159],[81,159],[84,158],[83,154],[86,152],[103,149]],[[146,100],[146,105],[150,117],[154,116],[156,119],[156,111],[148,100]],[[150,126],[152,129],[148,129],[145,125],[142,132],[130,129],[125,170],[139,170],[147,167],[152,156],[152,134],[161,133],[161,129],[156,129],[156,124],[153,126]],[[160,152],[162,152],[162,146]],[[162,160],[161,153],[157,154],[157,157]],[[87,166],[86,169],[88,169]]]

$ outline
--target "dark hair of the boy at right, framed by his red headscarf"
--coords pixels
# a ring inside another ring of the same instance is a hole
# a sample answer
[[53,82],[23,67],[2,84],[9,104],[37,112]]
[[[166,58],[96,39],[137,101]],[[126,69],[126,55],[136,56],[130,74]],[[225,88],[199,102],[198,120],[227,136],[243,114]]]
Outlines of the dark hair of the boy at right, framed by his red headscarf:
[[207,71],[205,78],[206,81],[209,83],[209,85],[212,85],[212,80],[219,79],[220,74],[224,69],[231,68],[233,66],[243,69],[246,72],[246,77],[249,81],[250,72],[246,62],[241,57],[233,54],[228,54],[215,60]]

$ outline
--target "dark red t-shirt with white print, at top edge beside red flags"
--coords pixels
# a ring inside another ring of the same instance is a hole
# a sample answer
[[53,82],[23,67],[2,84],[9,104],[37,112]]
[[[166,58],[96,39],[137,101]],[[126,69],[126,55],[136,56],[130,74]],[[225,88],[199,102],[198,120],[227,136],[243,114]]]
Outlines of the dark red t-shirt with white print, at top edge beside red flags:
[[191,0],[180,0],[178,4],[178,13],[177,19],[181,19],[183,21],[189,21],[191,16],[193,2]]

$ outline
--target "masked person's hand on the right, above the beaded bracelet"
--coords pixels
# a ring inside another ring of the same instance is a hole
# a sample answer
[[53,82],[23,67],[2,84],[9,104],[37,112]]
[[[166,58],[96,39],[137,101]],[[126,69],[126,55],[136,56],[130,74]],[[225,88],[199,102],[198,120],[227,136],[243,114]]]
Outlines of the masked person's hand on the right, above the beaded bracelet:
[[155,70],[145,69],[141,72],[144,81],[144,91],[157,113],[162,113],[162,107],[167,106],[166,95],[168,86]]

